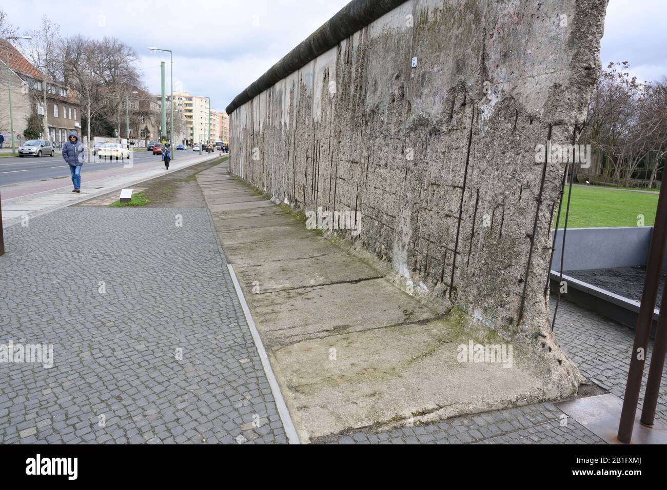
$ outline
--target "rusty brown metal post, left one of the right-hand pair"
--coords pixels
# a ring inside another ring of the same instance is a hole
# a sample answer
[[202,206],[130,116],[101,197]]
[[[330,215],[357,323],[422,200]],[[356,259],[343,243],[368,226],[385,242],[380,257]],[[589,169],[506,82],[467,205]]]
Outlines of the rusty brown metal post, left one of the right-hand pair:
[[[646,277],[644,279],[644,291],[642,292],[642,304],[637,317],[637,326],[634,334],[634,345],[632,357],[630,357],[630,369],[628,370],[628,381],[626,384],[623,409],[618,425],[618,440],[622,443],[630,443],[634,418],[637,413],[637,402],[642,387],[642,375],[644,375],[644,362],[646,361],[646,348],[648,337],[653,321],[653,311],[656,307],[656,296],[658,295],[658,284],[660,282],[660,270],[664,259],[665,243],[667,241],[667,183],[663,179],[660,185],[660,197],[658,197],[658,210],[656,222],[651,237],[651,248],[646,263]],[[663,295],[664,297],[664,295]],[[661,311],[660,313],[665,313]],[[662,315],[660,315],[662,319]],[[659,327],[658,327],[659,328]],[[664,352],[664,351],[663,351]],[[655,353],[654,353],[655,355]],[[664,357],[664,355],[663,355]],[[662,367],[660,369],[662,371]],[[660,383],[660,380],[658,380]]]

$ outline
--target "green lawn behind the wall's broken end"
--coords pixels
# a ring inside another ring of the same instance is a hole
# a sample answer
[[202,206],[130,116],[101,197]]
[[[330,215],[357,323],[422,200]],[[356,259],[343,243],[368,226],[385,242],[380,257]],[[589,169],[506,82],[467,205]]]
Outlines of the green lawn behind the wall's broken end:
[[[559,228],[565,223],[568,187],[563,196]],[[638,215],[644,215],[644,226],[656,220],[658,193],[620,191],[609,187],[572,186],[568,228],[598,228],[606,226],[637,226]],[[556,225],[556,216],[554,223]]]

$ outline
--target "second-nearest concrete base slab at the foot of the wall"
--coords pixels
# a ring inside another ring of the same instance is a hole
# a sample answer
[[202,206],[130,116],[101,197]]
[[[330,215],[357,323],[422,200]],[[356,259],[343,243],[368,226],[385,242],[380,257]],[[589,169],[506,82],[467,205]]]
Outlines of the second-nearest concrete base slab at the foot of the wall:
[[251,301],[257,330],[269,346],[436,316],[384,279],[251,295]]

